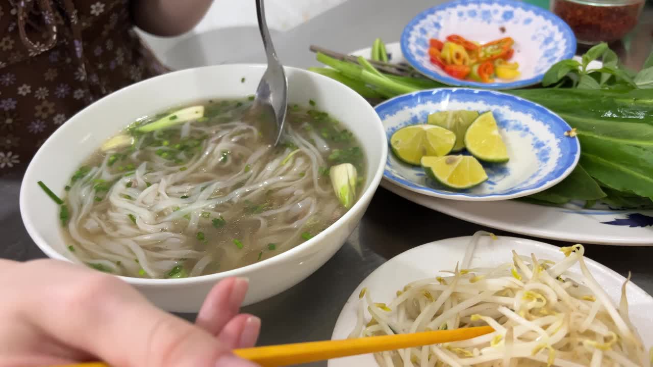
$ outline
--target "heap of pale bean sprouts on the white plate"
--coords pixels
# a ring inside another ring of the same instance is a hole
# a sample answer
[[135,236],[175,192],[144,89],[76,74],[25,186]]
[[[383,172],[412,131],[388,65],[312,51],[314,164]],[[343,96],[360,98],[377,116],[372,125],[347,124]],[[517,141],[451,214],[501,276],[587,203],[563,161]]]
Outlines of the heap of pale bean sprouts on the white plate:
[[[650,367],[653,351],[646,352],[628,318],[628,280],[617,307],[590,274],[581,245],[563,247],[558,263],[513,251],[510,263],[469,269],[483,235],[496,238],[477,232],[464,268],[409,283],[389,306],[379,307],[364,289],[349,338],[489,325],[495,331],[477,338],[383,352],[375,360],[382,367]],[[582,276],[570,273],[572,266]]]

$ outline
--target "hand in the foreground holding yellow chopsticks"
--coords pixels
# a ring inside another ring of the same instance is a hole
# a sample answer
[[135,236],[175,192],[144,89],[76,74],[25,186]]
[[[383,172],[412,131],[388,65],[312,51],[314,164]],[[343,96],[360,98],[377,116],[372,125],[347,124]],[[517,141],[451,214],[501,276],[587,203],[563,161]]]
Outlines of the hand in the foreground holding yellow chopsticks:
[[101,360],[115,367],[255,367],[231,349],[256,343],[239,314],[247,280],[224,279],[196,324],[155,308],[119,278],[56,260],[0,259],[0,367]]

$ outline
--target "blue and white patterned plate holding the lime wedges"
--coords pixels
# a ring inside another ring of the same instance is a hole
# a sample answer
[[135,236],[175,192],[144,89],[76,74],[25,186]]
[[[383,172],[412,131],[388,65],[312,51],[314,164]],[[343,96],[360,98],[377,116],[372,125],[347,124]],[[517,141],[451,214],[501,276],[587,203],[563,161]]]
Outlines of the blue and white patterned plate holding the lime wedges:
[[383,176],[401,187],[454,200],[506,200],[532,195],[562,181],[576,167],[579,141],[565,136],[571,127],[547,108],[496,91],[443,88],[389,99],[375,107],[390,136],[407,125],[426,123],[428,114],[442,110],[492,111],[510,160],[483,164],[488,180],[464,191],[452,191],[430,180],[421,167],[388,155]]

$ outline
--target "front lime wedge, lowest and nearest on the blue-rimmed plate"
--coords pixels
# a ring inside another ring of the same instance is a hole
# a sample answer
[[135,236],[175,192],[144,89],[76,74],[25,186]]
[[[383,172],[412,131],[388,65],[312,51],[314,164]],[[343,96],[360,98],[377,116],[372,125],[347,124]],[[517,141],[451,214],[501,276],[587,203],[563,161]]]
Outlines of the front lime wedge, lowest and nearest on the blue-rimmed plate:
[[481,163],[469,155],[422,157],[424,172],[451,189],[469,189],[488,179]]

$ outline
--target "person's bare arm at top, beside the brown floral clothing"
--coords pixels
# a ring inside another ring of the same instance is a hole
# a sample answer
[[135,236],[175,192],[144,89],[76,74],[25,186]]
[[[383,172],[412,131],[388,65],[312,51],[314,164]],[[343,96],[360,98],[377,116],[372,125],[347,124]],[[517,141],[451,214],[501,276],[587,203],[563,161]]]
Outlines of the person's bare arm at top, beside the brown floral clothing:
[[155,36],[171,37],[197,25],[213,0],[133,0],[136,27]]

